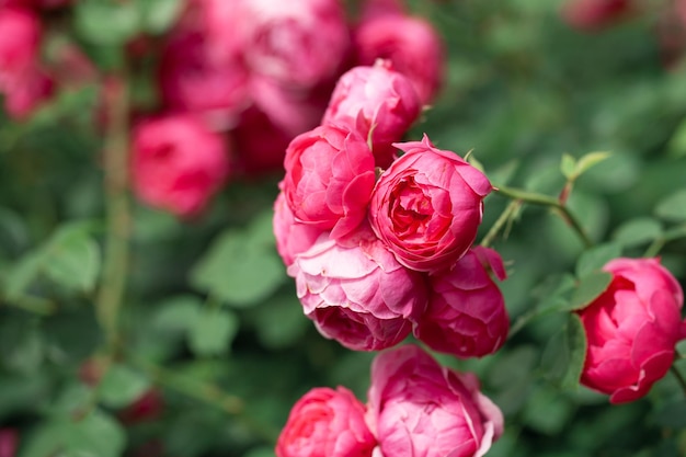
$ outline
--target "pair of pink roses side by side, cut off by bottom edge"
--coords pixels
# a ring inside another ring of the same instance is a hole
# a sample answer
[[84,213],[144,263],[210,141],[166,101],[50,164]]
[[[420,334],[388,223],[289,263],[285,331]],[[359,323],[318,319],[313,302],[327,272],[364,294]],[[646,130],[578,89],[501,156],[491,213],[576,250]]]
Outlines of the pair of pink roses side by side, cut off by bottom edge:
[[344,387],[319,387],[300,398],[276,456],[481,457],[502,433],[502,412],[472,374],[403,345],[376,356],[366,404]]

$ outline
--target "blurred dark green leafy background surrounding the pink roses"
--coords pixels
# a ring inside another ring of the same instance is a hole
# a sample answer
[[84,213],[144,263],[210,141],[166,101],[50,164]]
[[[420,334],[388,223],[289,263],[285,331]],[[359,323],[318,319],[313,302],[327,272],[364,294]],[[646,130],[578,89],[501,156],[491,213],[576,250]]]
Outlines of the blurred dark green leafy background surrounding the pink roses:
[[[81,1],[64,33],[116,70],[122,44],[162,33],[176,3]],[[442,95],[409,139],[426,133],[439,148],[473,150],[496,186],[552,197],[570,173],[564,155],[610,152],[569,199],[599,248],[585,250],[548,208],[519,208],[493,244],[507,262],[502,288],[518,331],[483,359],[438,356],[478,373],[505,413],[490,457],[686,455],[676,378],[610,407],[568,372],[583,341],[560,312],[587,298],[574,297],[584,294],[578,279],[593,290],[604,278],[591,272],[618,254],[659,247],[686,278],[686,64],[662,65],[653,3],[593,34],[565,25],[559,1],[413,3],[449,60]],[[155,96],[145,76],[134,75],[134,104]],[[21,431],[19,457],[155,455],[136,454],[150,442],[165,456],[266,457],[310,388],[344,385],[364,400],[374,354],[317,333],[276,254],[279,175],[231,182],[194,221],[133,203],[121,345],[103,356],[93,306],[107,236],[98,90],[65,91],[26,123],[0,114],[0,427]],[[480,239],[508,203],[489,196]],[[84,363],[104,373],[96,388],[81,380]],[[686,374],[685,359],[675,367]],[[126,424],[122,411],[150,388],[162,411]]]

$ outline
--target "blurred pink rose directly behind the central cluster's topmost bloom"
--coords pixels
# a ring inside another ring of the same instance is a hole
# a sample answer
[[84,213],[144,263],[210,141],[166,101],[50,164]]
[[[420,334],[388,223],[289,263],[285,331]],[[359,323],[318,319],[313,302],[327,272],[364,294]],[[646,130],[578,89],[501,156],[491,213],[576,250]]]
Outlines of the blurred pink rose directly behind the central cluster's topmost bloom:
[[422,104],[431,104],[443,83],[443,39],[431,22],[404,14],[375,14],[354,32],[358,65],[388,59],[414,84]]

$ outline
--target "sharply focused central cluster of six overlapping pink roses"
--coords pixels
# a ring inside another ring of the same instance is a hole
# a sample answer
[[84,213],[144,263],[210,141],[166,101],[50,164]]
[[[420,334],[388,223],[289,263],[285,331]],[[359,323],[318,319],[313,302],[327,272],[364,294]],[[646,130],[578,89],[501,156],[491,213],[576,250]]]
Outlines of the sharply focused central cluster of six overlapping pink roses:
[[413,333],[436,351],[480,357],[508,331],[494,281],[505,278],[503,261],[472,248],[492,186],[426,136],[392,142],[418,115],[416,90],[391,62],[346,72],[322,124],[286,150],[277,250],[325,338],[376,351]]

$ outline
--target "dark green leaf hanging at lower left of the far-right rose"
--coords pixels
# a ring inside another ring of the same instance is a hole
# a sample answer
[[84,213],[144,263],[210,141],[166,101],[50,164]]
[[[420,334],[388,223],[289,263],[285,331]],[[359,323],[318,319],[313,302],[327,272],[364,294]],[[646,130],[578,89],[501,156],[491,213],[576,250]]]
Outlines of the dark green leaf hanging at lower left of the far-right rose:
[[581,318],[570,313],[564,328],[550,339],[544,350],[541,367],[545,376],[562,389],[576,389],[586,358],[586,345]]

